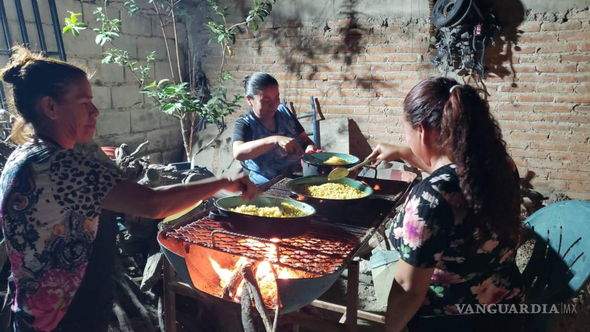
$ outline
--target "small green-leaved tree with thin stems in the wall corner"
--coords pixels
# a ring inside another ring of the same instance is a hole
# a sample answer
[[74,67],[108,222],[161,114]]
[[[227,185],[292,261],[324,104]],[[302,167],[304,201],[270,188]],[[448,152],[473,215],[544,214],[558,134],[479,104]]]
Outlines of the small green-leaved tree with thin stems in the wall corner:
[[[217,136],[203,145],[194,154],[203,151],[227,129],[227,116],[235,113],[240,106],[242,95],[233,95],[231,98],[227,96],[227,87],[224,82],[232,78],[231,73],[224,71],[224,65],[227,57],[234,55],[232,45],[235,44],[235,36],[238,29],[243,27],[246,30],[253,28],[258,30],[258,22],[264,21],[270,15],[273,9],[273,4],[276,0],[253,1],[253,9],[248,12],[248,16],[236,24],[228,24],[228,8],[227,6],[219,5],[218,0],[204,0],[204,2],[211,8],[217,20],[207,22],[209,30],[214,34],[214,37],[209,40],[211,42],[217,39],[217,42],[222,47],[221,65],[218,77],[215,79],[215,86],[206,89],[208,93],[199,93],[199,89],[195,84],[194,75],[189,77],[188,82],[183,82],[182,65],[179,62],[179,40],[177,21],[179,17],[185,14],[182,9],[182,0],[145,0],[146,5],[151,5],[156,11],[160,28],[164,36],[166,44],[166,56],[170,64],[171,77],[170,79],[158,79],[150,75],[150,69],[155,62],[155,52],[150,52],[145,57],[146,64],[139,64],[139,59],[133,58],[129,52],[117,47],[116,38],[119,37],[121,31],[122,21],[120,19],[111,19],[107,15],[107,4],[109,0],[103,0],[103,6],[96,8],[93,12],[96,21],[100,27],[93,28],[96,32],[96,43],[103,46],[109,45],[110,48],[103,53],[102,63],[113,63],[128,69],[135,77],[139,84],[139,92],[145,93],[152,105],[162,112],[175,116],[179,119],[182,132],[182,140],[186,152],[186,158],[190,160],[192,156],[192,145],[194,132],[202,128],[203,123],[214,123],[217,126]],[[124,6],[130,15],[135,15],[139,12],[140,7],[138,1],[126,1]],[[65,18],[65,27],[63,34],[68,31],[74,36],[80,34],[81,30],[85,30],[88,26],[84,22],[78,21],[78,16],[81,14],[68,11],[70,17]],[[168,39],[171,36],[166,35],[165,27],[172,25],[174,34],[174,43],[176,53],[176,61],[171,57],[171,50],[168,45]],[[189,61],[190,67],[190,61]],[[200,70],[200,69],[199,69]],[[202,71],[202,70],[201,70]]]

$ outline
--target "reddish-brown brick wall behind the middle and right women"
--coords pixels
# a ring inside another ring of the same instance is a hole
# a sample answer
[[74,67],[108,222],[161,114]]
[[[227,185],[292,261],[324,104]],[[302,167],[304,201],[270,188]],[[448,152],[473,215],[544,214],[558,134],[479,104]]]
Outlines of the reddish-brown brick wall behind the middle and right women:
[[[529,13],[503,22],[496,47],[487,50],[494,116],[521,174],[535,171],[533,185],[590,199],[590,12]],[[217,45],[204,45],[209,77],[218,70]],[[259,31],[238,36],[226,67],[240,78],[267,71],[281,95],[309,112],[309,96],[326,118],[349,118],[370,147],[404,141],[402,102],[419,80],[440,75],[429,63],[426,18],[366,18],[333,21],[274,19]],[[242,93],[241,81],[231,83]],[[320,126],[321,126],[320,122]],[[357,154],[369,146],[351,147]]]

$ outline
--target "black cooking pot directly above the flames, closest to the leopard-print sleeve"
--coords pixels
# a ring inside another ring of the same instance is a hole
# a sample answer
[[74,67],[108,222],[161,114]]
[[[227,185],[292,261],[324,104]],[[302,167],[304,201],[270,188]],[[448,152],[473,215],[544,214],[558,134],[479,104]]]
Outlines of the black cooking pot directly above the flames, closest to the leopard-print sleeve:
[[[303,217],[285,218],[259,217],[230,210],[242,205],[270,207],[277,206],[281,203],[291,204],[297,209],[304,211],[306,215]],[[241,196],[230,196],[219,198],[214,204],[217,210],[209,212],[209,219],[219,222],[221,227],[231,232],[263,237],[265,239],[271,239],[273,237],[284,239],[286,237],[303,235],[309,229],[312,216],[316,214],[316,209],[309,204],[289,198],[271,196],[258,196],[251,201],[244,200]]]

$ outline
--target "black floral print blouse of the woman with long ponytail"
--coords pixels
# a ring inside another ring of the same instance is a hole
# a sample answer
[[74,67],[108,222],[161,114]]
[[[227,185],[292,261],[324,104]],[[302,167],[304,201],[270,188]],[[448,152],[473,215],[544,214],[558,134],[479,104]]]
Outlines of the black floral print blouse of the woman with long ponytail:
[[391,242],[404,262],[435,268],[418,315],[456,314],[456,304],[524,300],[516,248],[503,246],[496,235],[479,245],[466,206],[451,164],[417,184],[394,219]]

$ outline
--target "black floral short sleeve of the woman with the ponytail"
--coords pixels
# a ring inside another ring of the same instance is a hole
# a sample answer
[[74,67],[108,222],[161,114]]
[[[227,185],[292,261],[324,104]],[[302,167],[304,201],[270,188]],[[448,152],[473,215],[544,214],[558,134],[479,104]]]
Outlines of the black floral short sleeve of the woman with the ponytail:
[[453,213],[441,194],[428,184],[417,185],[395,217],[390,239],[404,262],[434,268],[450,245],[449,222]]

